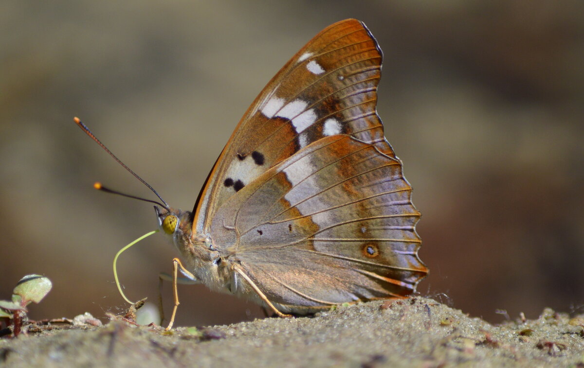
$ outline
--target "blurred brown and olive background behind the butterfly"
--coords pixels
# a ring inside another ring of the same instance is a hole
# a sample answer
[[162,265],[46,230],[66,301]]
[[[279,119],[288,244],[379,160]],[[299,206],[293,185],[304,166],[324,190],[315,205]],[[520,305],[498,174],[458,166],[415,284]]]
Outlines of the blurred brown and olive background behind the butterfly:
[[[384,50],[378,111],[422,211],[423,295],[497,322],[584,305],[584,6],[573,1],[4,1],[0,299],[25,274],[32,318],[125,307],[119,248],[155,229],[154,196],[75,127],[78,115],[169,204],[191,209],[232,129],[319,30],[363,20]],[[175,250],[124,254],[130,299],[156,300]],[[171,304],[165,286],[166,306]],[[440,295],[444,293],[444,295]],[[179,325],[262,316],[182,286]]]

